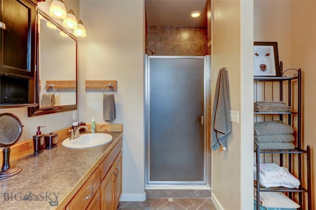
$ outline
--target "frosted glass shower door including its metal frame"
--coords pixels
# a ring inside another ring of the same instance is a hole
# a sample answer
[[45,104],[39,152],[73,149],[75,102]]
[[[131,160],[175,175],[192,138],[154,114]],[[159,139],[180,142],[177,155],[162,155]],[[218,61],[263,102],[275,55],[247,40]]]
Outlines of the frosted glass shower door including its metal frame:
[[146,186],[209,186],[209,56],[145,55]]

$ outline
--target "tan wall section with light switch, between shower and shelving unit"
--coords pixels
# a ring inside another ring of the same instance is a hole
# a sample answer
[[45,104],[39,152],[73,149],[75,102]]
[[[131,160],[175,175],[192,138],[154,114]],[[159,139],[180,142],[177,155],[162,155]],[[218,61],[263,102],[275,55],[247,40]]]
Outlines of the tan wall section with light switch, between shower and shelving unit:
[[212,92],[219,69],[226,67],[231,109],[239,112],[227,150],[212,151],[212,200],[218,210],[253,208],[252,10],[252,1],[212,1]]

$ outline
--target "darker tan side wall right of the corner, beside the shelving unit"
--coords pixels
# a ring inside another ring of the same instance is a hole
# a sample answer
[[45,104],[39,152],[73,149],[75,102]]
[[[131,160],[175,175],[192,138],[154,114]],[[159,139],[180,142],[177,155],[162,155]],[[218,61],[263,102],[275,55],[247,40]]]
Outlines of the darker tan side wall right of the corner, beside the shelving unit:
[[[316,106],[316,1],[291,1],[290,66],[301,68],[303,74],[303,147],[312,150],[312,203],[316,208],[316,134],[314,111]],[[306,168],[305,168],[306,169]],[[306,180],[303,180],[306,186]],[[305,208],[307,209],[307,208]]]

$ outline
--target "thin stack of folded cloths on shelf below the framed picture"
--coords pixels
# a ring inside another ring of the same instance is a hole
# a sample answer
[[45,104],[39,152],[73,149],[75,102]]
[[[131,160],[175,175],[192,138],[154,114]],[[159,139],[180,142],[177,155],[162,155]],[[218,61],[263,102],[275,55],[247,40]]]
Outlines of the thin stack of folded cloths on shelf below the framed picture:
[[279,101],[258,101],[253,104],[255,112],[288,112],[291,106]]

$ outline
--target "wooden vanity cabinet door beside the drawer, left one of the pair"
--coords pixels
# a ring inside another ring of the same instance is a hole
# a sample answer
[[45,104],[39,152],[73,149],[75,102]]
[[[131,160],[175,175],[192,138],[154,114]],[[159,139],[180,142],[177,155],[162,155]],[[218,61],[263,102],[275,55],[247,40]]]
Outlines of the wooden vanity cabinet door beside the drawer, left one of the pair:
[[111,166],[108,173],[105,175],[100,185],[101,193],[101,210],[113,210],[114,209],[114,164]]

